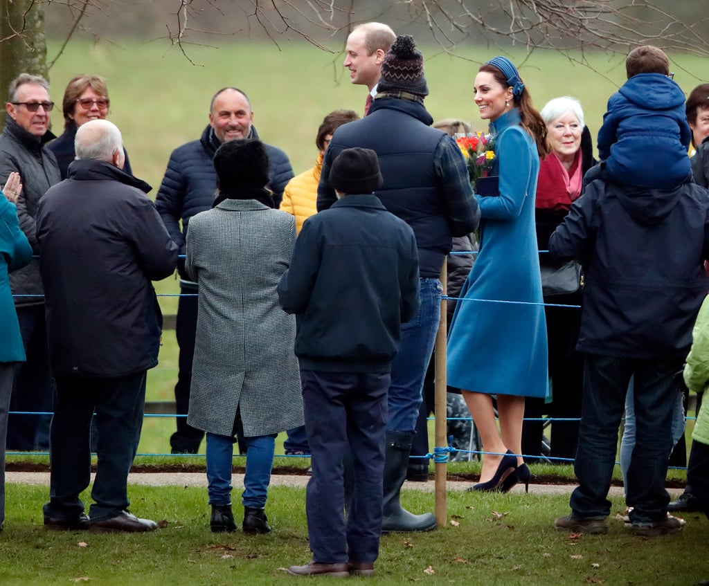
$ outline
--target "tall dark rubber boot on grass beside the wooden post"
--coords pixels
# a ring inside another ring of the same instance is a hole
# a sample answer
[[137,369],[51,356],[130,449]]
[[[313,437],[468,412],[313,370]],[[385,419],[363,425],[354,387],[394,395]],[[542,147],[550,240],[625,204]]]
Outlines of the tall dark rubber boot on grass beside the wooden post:
[[411,452],[413,432],[386,431],[384,446],[384,499],[382,508],[382,533],[408,533],[409,531],[431,531],[435,529],[436,518],[432,513],[412,514],[401,507],[399,496],[401,485],[406,478],[408,455]]

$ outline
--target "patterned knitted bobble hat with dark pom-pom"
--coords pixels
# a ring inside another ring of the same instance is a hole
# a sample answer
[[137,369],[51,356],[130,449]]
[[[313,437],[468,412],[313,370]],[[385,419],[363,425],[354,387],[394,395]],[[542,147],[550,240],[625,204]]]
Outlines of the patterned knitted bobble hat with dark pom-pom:
[[406,91],[422,98],[428,96],[423,55],[416,49],[411,35],[399,35],[384,55],[376,91]]

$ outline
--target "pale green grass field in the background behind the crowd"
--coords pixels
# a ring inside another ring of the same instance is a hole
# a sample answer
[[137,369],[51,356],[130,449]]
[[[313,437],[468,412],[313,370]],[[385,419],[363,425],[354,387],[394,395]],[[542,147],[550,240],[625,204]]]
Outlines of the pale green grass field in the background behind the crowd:
[[[445,54],[440,47],[420,47],[430,96],[425,104],[435,119],[458,117],[477,130],[485,126],[473,103],[473,80],[479,62],[495,54],[484,47],[460,47],[465,57]],[[50,45],[50,58],[55,52]],[[187,60],[176,47],[162,40],[125,43],[91,43],[72,40],[50,71],[51,95],[61,98],[67,81],[79,73],[106,78],[111,94],[109,118],[123,131],[125,146],[136,176],[160,186],[170,152],[194,140],[208,123],[208,106],[223,86],[237,86],[250,96],[254,122],[262,140],[289,154],[294,171],[311,167],[316,156],[317,127],[323,116],[336,108],[361,112],[366,90],[352,86],[342,67],[342,55],[319,50],[306,43],[284,42],[281,50],[267,41],[223,43],[218,48],[191,46]],[[570,94],[584,105],[586,124],[593,135],[601,124],[605,103],[625,77],[623,60],[605,55],[586,55],[588,67],[549,51],[525,58],[523,50],[511,57],[538,108],[549,99]],[[674,79],[686,92],[699,83],[691,72],[705,64],[682,57],[673,64]],[[62,113],[52,113],[55,133],[62,130]],[[177,278],[157,283],[158,293],[179,293]],[[176,297],[161,297],[163,312],[177,310]],[[177,379],[177,344],[174,332],[164,332],[160,365],[150,371],[148,400],[170,400]],[[162,453],[174,421],[146,419],[140,451]]]

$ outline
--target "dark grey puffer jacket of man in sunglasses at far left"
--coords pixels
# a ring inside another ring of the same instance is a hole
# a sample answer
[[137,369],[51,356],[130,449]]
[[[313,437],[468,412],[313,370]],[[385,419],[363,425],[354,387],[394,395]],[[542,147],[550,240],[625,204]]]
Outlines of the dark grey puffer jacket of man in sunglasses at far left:
[[[18,171],[22,181],[22,192],[17,199],[17,217],[34,254],[38,253],[35,235],[37,206],[45,191],[62,177],[54,154],[45,143],[55,136],[49,131],[39,139],[30,135],[10,116],[5,121],[5,130],[0,134],[0,187],[4,186],[12,171]],[[37,259],[23,269],[10,274],[10,285],[16,296],[16,305],[37,305],[43,303],[39,295],[44,293]]]

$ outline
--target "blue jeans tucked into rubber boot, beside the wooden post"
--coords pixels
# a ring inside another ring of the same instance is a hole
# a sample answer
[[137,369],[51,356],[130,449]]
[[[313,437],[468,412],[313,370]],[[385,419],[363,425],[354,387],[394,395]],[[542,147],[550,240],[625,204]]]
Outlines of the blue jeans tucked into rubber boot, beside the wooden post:
[[421,305],[411,321],[401,324],[401,345],[391,364],[389,421],[386,429],[415,432],[423,378],[428,368],[440,320],[443,287],[437,278],[422,278]]

